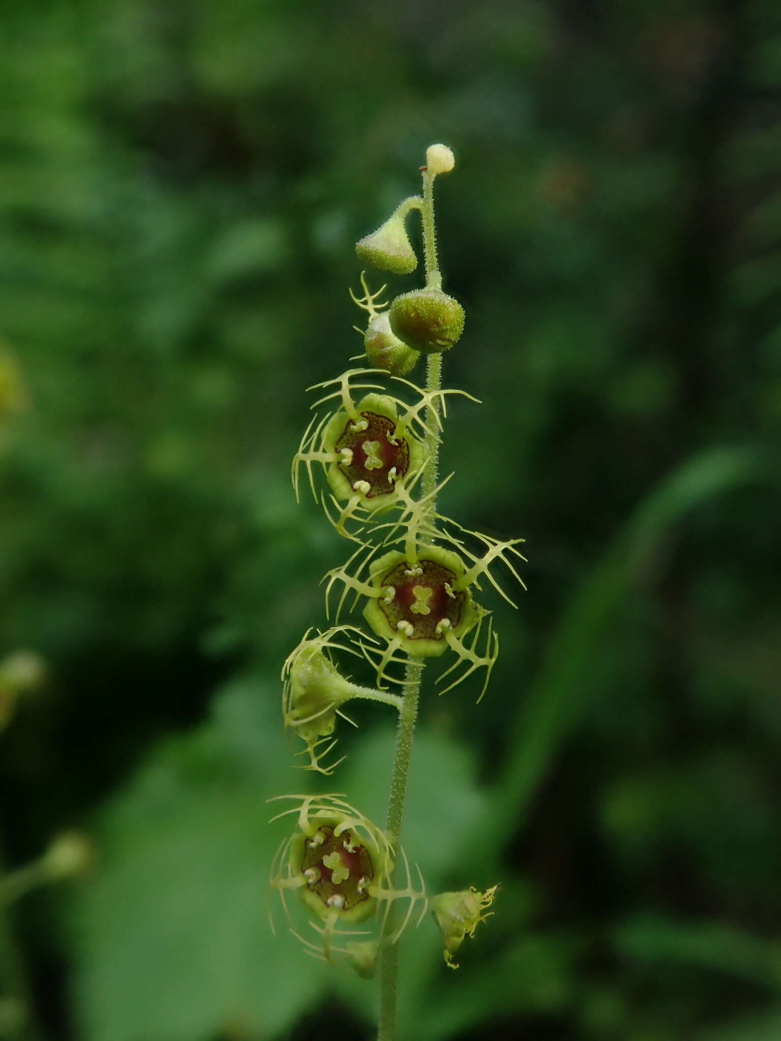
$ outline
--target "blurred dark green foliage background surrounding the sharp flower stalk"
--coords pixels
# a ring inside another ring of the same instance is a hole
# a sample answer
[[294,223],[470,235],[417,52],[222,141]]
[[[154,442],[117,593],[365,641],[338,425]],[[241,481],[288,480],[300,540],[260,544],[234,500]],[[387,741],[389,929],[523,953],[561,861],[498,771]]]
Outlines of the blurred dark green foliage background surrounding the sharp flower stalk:
[[[524,535],[529,591],[484,701],[424,699],[406,848],[502,888],[458,973],[405,937],[405,1036],[778,1041],[776,4],[4,0],[0,44],[0,659],[47,669],[3,858],[95,850],[5,908],[0,1037],[372,1035],[267,923],[279,668],[346,549],[288,469],[353,243],[444,141],[483,405],[442,508]],[[330,788],[381,819],[377,715]]]

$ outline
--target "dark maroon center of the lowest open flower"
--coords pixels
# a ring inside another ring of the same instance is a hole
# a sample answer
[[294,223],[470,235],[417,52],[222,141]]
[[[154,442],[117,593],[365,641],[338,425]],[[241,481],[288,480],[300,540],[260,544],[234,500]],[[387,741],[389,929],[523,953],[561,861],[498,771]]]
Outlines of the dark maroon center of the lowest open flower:
[[369,884],[374,878],[372,858],[357,838],[353,840],[350,831],[334,835],[333,828],[322,824],[311,838],[305,839],[301,870],[308,889],[328,907],[349,911],[369,899]]

